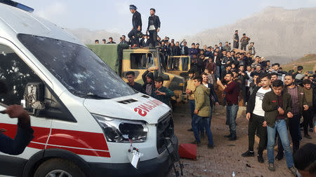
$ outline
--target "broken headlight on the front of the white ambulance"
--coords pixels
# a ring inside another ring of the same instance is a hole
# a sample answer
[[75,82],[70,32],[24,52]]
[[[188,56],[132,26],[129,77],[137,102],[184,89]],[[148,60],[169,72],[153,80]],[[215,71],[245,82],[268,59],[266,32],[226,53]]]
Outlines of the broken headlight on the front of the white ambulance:
[[102,115],[92,114],[103,129],[108,142],[114,143],[141,143],[147,139],[148,128],[144,122],[134,122],[107,118]]

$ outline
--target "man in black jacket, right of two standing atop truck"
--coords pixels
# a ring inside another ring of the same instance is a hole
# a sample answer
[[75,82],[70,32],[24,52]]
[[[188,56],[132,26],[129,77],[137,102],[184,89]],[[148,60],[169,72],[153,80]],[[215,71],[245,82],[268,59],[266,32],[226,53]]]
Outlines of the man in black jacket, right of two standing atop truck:
[[[150,43],[152,47],[157,46],[157,33],[160,30],[160,20],[157,15],[154,15],[156,10],[154,8],[150,8],[150,17],[148,17],[148,27],[147,31],[150,33]],[[146,34],[147,34],[146,31]]]

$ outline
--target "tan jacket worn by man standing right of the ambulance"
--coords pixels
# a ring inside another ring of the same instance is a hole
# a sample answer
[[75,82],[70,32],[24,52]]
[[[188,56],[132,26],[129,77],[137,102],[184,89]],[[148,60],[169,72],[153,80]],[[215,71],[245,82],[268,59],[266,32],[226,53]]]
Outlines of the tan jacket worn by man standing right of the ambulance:
[[195,89],[195,109],[199,111],[197,115],[209,118],[211,116],[211,105],[209,102],[210,89],[200,84]]

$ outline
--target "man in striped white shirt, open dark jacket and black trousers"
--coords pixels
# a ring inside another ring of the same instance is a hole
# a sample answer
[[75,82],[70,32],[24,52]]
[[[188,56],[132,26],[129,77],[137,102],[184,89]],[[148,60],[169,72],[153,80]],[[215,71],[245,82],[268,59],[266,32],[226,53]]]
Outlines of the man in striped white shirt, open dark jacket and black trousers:
[[[254,138],[257,132],[257,136],[260,138],[258,147],[258,162],[263,163],[263,149],[267,143],[267,125],[264,119],[265,111],[262,108],[262,101],[265,93],[270,92],[270,73],[265,73],[261,78],[261,87],[256,87],[251,94],[247,108],[246,119],[249,121],[248,137],[249,148],[246,153],[242,154],[242,157],[254,157]],[[258,82],[258,81],[257,81]]]

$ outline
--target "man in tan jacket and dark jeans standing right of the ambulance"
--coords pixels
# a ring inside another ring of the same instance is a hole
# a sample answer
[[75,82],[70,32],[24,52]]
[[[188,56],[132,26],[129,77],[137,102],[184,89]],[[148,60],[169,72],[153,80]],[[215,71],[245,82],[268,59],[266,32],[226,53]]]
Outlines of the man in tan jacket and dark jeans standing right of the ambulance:
[[211,116],[211,105],[209,102],[209,94],[210,89],[205,87],[202,84],[203,78],[201,76],[195,77],[193,79],[195,84],[195,115],[194,115],[194,126],[193,126],[193,133],[195,135],[195,141],[199,145],[201,140],[199,139],[199,124],[204,126],[206,135],[209,140],[208,147],[213,148],[213,136],[211,135],[211,128],[209,125],[209,119]]

